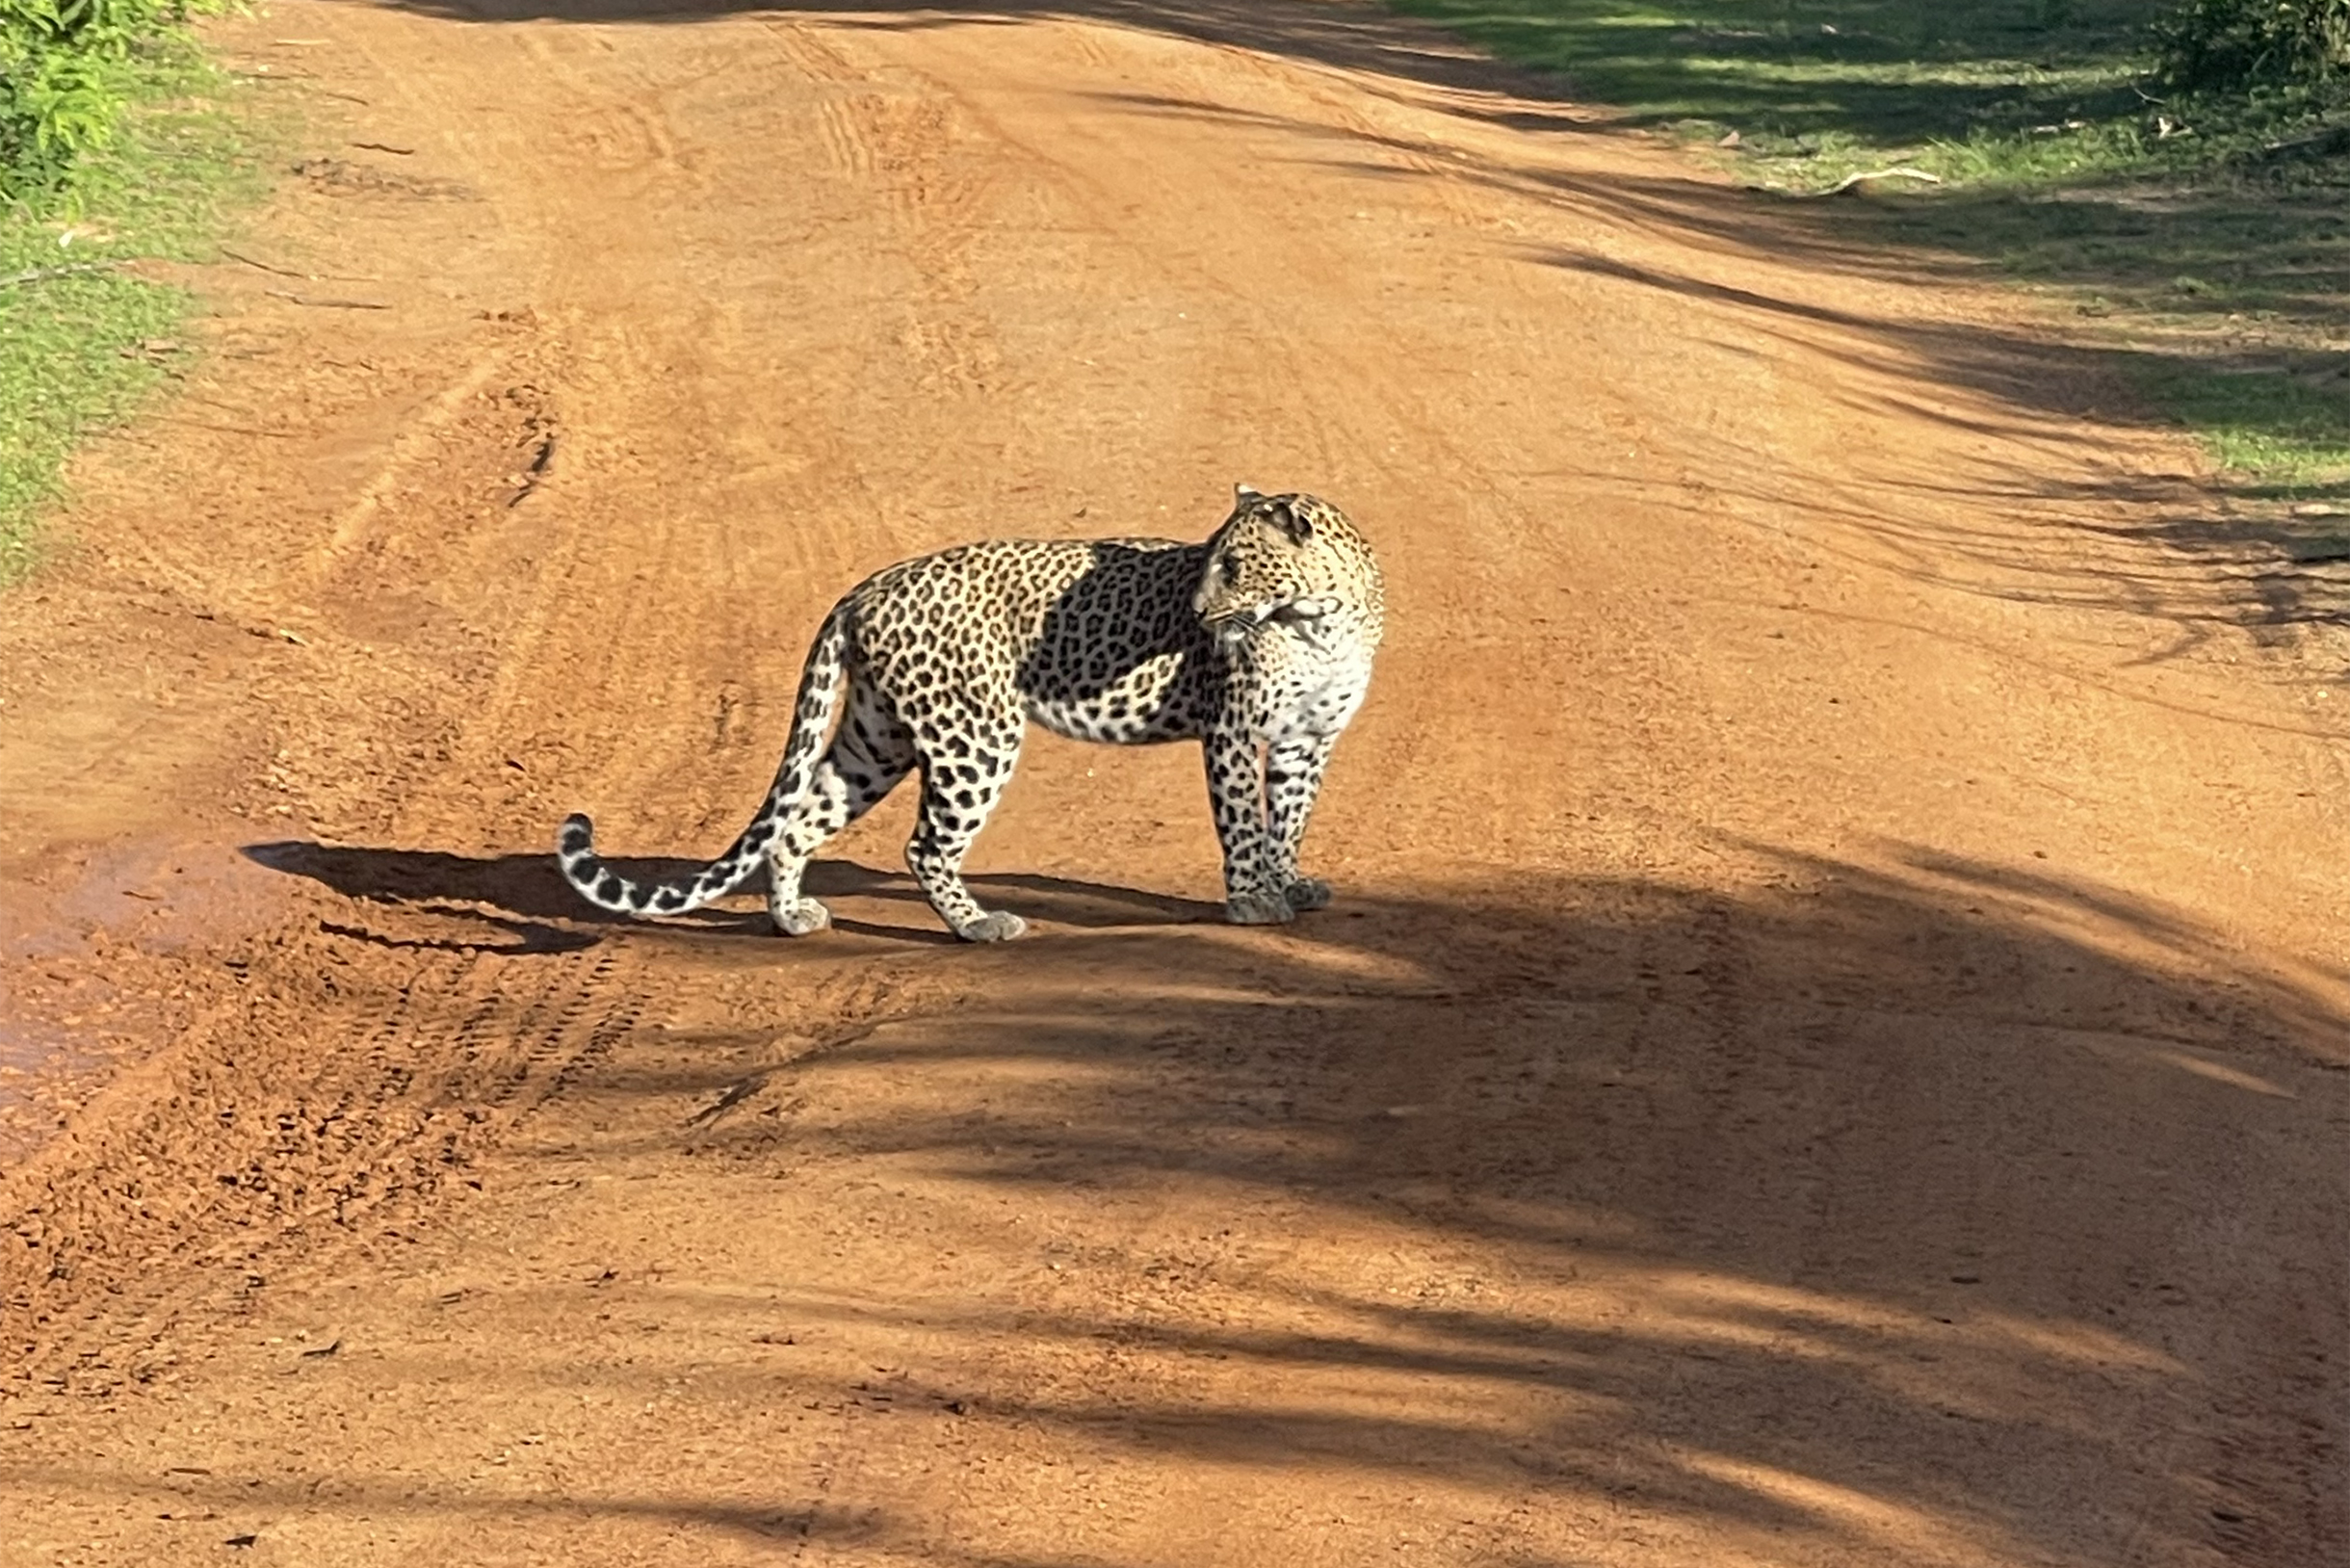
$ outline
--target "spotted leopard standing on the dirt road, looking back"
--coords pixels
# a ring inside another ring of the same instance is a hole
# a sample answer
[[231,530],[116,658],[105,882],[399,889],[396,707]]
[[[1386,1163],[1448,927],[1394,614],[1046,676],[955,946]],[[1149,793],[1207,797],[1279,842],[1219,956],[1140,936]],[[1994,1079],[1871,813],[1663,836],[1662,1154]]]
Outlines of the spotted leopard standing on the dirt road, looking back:
[[1234,487],[1224,522],[1173,538],[994,538],[884,567],[825,616],[759,811],[717,860],[634,882],[564,818],[557,865],[616,914],[682,914],[766,865],[768,919],[811,936],[815,851],[921,773],[907,870],[968,943],[1027,931],[987,910],[964,856],[1010,783],[1029,724],[1107,745],[1198,741],[1224,860],[1224,919],[1285,924],[1330,903],[1297,870],[1340,733],[1370,686],[1386,585],[1337,505]]

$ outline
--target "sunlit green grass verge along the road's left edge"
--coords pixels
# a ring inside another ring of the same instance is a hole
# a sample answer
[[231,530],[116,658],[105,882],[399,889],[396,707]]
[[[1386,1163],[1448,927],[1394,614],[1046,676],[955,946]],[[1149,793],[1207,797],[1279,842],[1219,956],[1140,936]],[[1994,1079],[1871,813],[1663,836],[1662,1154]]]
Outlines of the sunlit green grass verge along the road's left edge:
[[125,418],[186,348],[183,289],[122,263],[204,261],[261,190],[240,87],[188,54],[155,61],[120,143],[75,188],[0,209],[0,585],[21,578],[75,442]]

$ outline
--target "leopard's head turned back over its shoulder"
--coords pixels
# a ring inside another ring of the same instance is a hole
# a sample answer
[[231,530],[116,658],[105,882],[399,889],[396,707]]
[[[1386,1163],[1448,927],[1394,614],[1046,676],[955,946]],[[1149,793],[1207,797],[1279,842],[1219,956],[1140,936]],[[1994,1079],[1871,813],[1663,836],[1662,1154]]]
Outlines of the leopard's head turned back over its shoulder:
[[1269,625],[1344,630],[1377,639],[1379,567],[1354,524],[1316,496],[1260,496],[1234,487],[1231,515],[1208,541],[1191,595],[1203,625],[1227,642]]

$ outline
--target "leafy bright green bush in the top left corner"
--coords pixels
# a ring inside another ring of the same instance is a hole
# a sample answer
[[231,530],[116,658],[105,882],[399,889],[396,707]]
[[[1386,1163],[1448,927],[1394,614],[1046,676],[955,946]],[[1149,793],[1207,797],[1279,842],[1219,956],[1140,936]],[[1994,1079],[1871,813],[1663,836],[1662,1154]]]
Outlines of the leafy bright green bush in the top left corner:
[[0,195],[61,186],[113,141],[132,63],[186,19],[186,0],[0,0]]

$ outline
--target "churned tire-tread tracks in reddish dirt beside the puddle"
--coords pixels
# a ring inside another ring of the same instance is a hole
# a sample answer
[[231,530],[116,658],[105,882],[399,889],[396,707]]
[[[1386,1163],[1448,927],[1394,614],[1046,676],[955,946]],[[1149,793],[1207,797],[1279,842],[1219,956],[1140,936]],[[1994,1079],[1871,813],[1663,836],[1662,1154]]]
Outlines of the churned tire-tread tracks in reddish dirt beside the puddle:
[[[378,964],[355,994],[338,980],[364,973],[352,959],[404,938],[338,931],[249,945],[233,1004],[0,1178],[24,1241],[0,1272],[19,1385],[148,1380],[181,1319],[240,1309],[280,1260],[364,1255],[644,1020],[637,966],[606,947],[491,957],[407,938],[411,966]],[[61,1316],[89,1300],[108,1302],[92,1328]]]

